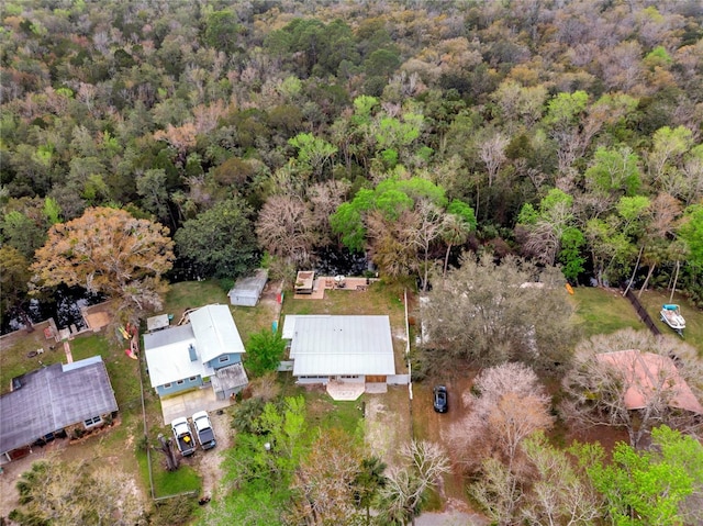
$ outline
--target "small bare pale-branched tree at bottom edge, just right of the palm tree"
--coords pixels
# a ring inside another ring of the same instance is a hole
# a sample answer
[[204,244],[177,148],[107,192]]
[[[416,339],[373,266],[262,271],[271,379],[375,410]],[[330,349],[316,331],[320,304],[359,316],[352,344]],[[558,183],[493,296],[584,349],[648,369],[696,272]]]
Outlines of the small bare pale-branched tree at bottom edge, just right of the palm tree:
[[379,517],[383,524],[412,521],[414,525],[426,490],[450,472],[449,460],[439,446],[425,440],[404,444],[400,454],[404,466],[389,470],[379,496]]

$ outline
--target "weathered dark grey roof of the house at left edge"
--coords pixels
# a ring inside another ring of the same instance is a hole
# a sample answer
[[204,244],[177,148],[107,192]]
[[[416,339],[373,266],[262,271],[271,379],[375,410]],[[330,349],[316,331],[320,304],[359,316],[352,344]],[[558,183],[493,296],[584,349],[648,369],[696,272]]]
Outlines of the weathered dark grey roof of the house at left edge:
[[100,356],[54,363],[20,377],[21,388],[0,396],[0,452],[118,411]]

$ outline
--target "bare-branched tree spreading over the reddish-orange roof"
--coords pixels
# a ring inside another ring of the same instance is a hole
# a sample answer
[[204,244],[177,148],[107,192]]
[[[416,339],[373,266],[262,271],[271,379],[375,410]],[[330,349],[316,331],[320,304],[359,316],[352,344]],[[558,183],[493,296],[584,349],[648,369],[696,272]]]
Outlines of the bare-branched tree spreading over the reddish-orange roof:
[[692,403],[700,406],[703,369],[695,349],[687,344],[632,328],[596,335],[577,347],[573,366],[562,381],[565,399],[559,411],[577,427],[624,428],[633,447],[662,423],[700,434],[699,415],[682,406],[681,380],[690,389],[687,396],[690,392]]

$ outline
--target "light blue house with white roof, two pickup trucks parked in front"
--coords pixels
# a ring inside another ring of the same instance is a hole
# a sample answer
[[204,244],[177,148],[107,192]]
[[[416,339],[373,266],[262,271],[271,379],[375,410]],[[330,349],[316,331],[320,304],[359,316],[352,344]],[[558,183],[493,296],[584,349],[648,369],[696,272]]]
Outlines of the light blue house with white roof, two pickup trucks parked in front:
[[144,335],[149,380],[161,398],[211,388],[226,400],[248,383],[244,352],[227,305],[197,309],[188,323]]

